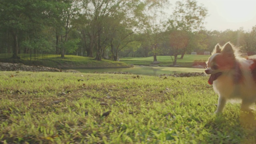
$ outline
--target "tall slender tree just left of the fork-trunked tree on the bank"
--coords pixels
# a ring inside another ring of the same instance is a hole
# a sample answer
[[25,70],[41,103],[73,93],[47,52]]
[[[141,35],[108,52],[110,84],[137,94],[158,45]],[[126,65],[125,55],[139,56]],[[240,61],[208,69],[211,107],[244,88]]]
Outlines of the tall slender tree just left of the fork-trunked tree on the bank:
[[[94,42],[93,46],[96,49],[96,60],[102,60],[104,49],[108,46],[109,31],[108,31],[108,18],[120,0],[84,0],[83,4],[86,5],[87,10],[84,16],[88,20],[87,35],[90,42]],[[91,43],[92,44],[92,43]],[[92,46],[92,45],[91,45]],[[92,48],[92,47],[91,47]]]

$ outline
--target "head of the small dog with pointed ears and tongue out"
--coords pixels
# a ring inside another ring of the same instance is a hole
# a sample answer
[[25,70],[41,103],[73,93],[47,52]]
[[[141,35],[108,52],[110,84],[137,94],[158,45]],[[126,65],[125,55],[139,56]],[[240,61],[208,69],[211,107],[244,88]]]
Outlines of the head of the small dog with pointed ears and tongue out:
[[213,84],[223,72],[227,72],[234,68],[236,62],[236,50],[230,42],[226,43],[222,48],[217,44],[212,52],[212,56],[206,62],[206,74],[211,74],[208,83]]

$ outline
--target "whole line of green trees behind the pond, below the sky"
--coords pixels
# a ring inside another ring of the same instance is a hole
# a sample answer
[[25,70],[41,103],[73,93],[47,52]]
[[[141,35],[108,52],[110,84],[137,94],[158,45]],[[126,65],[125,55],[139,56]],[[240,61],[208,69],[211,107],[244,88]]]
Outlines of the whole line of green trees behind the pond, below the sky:
[[[65,54],[118,60],[118,57],[212,51],[232,42],[255,53],[251,31],[205,30],[208,10],[195,0],[1,0],[0,53]],[[10,57],[8,57],[10,58]]]

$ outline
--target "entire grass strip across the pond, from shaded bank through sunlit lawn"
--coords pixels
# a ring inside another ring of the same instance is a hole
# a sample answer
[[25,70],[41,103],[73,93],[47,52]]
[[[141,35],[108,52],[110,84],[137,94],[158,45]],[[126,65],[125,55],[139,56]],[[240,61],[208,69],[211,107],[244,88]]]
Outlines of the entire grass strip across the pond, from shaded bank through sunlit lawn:
[[[60,55],[46,54],[42,56],[32,55],[30,59],[29,54],[20,54],[20,60],[8,59],[12,54],[0,54],[0,62],[14,62],[23,63],[26,65],[42,65],[55,68],[64,67],[127,67],[130,64],[135,65],[150,65],[153,62],[153,57],[147,58],[122,58],[120,62],[113,60],[97,61],[94,58],[65,55],[65,58],[60,58]],[[180,57],[180,56],[178,56]],[[201,60],[205,62],[209,56],[205,55],[185,55],[183,59],[178,59],[177,64],[182,67],[191,67],[195,60]],[[160,62],[159,66],[172,65],[172,59],[170,56],[157,56],[157,60]]]

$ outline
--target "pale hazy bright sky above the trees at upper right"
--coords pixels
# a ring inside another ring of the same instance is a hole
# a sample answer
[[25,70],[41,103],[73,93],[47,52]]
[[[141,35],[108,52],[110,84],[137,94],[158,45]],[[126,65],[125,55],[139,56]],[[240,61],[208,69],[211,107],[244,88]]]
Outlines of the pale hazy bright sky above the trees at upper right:
[[[170,0],[171,9],[175,2]],[[207,30],[251,30],[256,26],[256,0],[196,0],[208,9]]]

